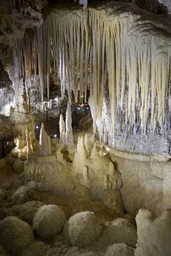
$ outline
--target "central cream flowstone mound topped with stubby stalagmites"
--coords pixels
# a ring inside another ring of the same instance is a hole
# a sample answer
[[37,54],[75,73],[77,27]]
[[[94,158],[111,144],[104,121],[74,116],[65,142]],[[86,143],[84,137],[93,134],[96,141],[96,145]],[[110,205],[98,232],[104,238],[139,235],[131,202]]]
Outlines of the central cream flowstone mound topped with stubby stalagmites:
[[122,213],[120,173],[113,163],[99,150],[98,142],[91,144],[88,136],[78,137],[77,151],[72,162],[72,172],[80,178],[80,183],[98,197],[104,205]]

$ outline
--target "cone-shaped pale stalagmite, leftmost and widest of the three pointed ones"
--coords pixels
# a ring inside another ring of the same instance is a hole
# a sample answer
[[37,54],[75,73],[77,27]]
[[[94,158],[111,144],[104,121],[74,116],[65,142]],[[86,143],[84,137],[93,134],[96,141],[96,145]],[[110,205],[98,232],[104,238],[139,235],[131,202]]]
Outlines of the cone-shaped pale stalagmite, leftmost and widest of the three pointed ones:
[[41,157],[47,157],[51,154],[51,139],[47,135],[44,124],[41,124],[41,133],[39,139],[39,154]]

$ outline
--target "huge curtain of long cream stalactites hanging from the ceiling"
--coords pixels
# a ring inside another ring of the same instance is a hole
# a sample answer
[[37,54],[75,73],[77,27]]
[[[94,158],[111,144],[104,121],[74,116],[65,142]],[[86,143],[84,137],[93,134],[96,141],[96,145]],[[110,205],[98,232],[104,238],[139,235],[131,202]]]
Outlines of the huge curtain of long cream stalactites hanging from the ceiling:
[[60,78],[62,95],[67,91],[71,98],[73,91],[75,101],[78,96],[86,101],[90,91],[94,132],[96,120],[105,112],[105,94],[111,122],[99,123],[109,125],[105,131],[110,136],[116,116],[133,132],[139,128],[145,132],[148,122],[151,131],[159,126],[167,132],[170,28],[159,25],[155,17],[147,20],[143,12],[129,13],[119,3],[96,9],[53,9],[41,26],[26,30],[16,52],[17,75],[28,86],[34,75],[39,76],[42,102],[45,93],[49,98],[51,73]]

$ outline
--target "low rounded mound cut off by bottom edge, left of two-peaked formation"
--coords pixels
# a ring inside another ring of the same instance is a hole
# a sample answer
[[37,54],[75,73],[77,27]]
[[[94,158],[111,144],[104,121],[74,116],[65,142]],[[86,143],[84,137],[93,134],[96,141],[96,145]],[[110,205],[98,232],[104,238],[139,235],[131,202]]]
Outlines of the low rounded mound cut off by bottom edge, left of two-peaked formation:
[[113,244],[107,248],[104,256],[134,256],[133,247],[129,247],[127,244]]

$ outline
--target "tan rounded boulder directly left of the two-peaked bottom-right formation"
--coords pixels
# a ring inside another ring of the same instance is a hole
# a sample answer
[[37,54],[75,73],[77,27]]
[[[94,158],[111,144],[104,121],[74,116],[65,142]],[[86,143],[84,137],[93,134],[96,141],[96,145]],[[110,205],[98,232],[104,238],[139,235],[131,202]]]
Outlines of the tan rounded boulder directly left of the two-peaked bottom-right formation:
[[137,242],[136,229],[130,220],[117,218],[107,225],[100,237],[98,244],[101,249],[112,244],[128,244],[135,247]]

